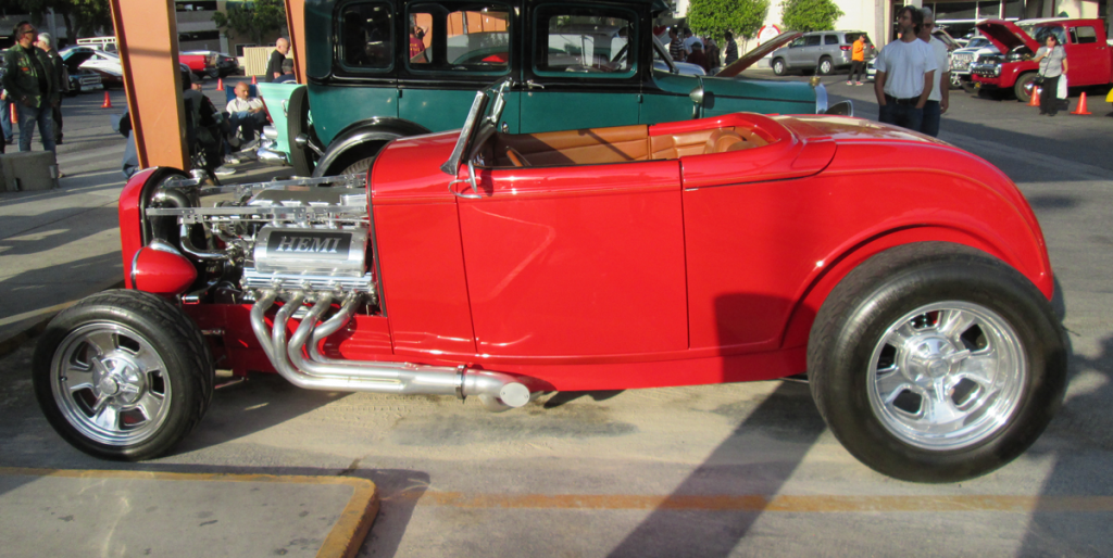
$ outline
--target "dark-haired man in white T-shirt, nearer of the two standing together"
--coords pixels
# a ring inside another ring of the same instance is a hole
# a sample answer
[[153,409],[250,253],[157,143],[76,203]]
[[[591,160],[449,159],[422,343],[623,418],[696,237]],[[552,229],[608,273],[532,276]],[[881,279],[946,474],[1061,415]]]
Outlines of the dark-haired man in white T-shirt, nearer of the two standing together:
[[886,44],[875,62],[877,119],[916,131],[923,124],[937,69],[932,47],[916,37],[923,23],[924,14],[916,7],[902,8],[897,13],[900,39]]

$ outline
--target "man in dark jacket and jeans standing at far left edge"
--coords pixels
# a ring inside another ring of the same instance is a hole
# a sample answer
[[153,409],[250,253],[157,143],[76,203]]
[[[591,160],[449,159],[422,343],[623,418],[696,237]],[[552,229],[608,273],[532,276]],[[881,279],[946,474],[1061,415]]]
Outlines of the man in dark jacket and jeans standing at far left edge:
[[28,21],[16,26],[16,44],[8,49],[3,88],[16,103],[19,119],[19,150],[30,151],[35,126],[39,126],[42,148],[55,150],[55,122],[50,108],[58,102],[58,84],[46,52],[35,48],[39,32]]

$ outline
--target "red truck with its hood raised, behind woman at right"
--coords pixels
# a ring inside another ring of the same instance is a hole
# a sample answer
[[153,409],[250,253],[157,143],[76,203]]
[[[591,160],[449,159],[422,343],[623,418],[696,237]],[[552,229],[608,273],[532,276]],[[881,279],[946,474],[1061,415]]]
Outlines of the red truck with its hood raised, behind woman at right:
[[1070,87],[1113,83],[1113,49],[1105,37],[1105,20],[1047,18],[1023,21],[987,19],[978,31],[997,47],[998,52],[981,52],[971,64],[974,87],[1012,89],[1027,102],[1030,84],[1040,71],[1032,59],[1036,50],[1054,34],[1066,49]]

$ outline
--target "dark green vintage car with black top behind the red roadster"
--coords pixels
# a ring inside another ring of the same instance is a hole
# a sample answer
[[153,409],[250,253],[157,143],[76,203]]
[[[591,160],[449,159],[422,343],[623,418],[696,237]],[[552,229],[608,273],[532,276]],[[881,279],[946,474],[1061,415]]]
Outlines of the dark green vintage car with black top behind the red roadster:
[[365,171],[395,138],[457,128],[475,91],[508,77],[501,128],[511,133],[827,111],[821,84],[678,70],[653,34],[668,9],[663,0],[307,1],[307,84],[259,84],[274,120],[260,159],[302,176]]

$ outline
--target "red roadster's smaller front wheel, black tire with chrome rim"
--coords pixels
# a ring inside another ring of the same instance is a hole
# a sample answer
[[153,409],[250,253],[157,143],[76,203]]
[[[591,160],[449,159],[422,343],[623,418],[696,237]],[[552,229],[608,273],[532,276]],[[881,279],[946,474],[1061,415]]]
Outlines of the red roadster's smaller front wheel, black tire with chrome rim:
[[36,347],[35,393],[50,426],[101,459],[159,457],[213,399],[213,356],[197,325],[136,290],[93,295],[59,313]]

